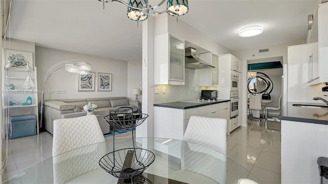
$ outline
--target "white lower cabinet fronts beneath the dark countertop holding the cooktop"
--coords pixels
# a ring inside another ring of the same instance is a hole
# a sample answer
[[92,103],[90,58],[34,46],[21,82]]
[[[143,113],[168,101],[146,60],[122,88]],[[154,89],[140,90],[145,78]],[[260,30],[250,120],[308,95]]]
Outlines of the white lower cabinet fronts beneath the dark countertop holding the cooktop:
[[227,119],[229,124],[230,102],[213,104],[186,110],[155,106],[154,137],[173,138],[181,140],[188,126],[190,116],[224,118]]

